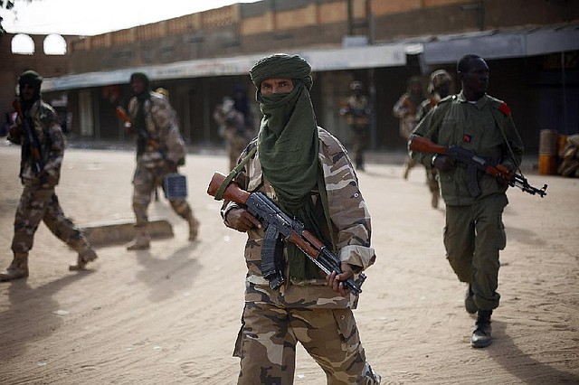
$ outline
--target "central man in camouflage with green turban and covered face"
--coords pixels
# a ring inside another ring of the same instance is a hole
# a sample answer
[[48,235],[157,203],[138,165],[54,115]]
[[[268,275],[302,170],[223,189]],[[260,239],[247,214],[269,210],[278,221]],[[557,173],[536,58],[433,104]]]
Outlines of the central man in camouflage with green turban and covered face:
[[356,172],[337,138],[317,126],[311,107],[311,69],[298,55],[276,54],[250,71],[264,117],[260,133],[241,155],[257,153],[235,182],[263,192],[290,217],[305,223],[337,251],[342,273],[328,277],[292,244],[283,247],[286,282],[271,289],[261,274],[263,229],[242,205],[224,202],[226,226],[247,232],[245,306],[233,355],[241,358],[239,384],[291,384],[301,343],[328,384],[377,384],[365,359],[356,319],[357,296],[343,280],[375,262],[370,215]]

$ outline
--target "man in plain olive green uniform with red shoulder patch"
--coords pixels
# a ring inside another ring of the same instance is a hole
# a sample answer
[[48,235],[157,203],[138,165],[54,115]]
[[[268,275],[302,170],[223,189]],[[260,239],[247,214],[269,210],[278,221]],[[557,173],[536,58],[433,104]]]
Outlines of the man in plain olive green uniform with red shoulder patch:
[[[496,162],[497,169],[508,178],[517,170],[523,154],[510,109],[505,102],[487,95],[489,66],[482,58],[460,58],[457,71],[462,83],[460,94],[441,99],[413,135],[427,137],[441,146],[464,147]],[[446,258],[460,281],[468,284],[464,302],[467,312],[478,315],[470,344],[475,348],[489,346],[490,316],[500,299],[498,254],[507,244],[502,214],[508,204],[508,184],[504,179],[478,173],[475,182],[481,193],[472,196],[466,168],[450,157],[424,153],[413,153],[413,157],[439,170],[446,203]]]

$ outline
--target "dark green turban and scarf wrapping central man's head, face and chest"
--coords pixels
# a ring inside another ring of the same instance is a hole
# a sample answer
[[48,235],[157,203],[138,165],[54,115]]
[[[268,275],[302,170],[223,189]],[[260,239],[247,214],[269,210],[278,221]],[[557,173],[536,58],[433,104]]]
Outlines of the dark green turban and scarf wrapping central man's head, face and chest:
[[[326,226],[326,219],[315,210],[310,198],[311,190],[323,183],[318,164],[318,125],[309,97],[310,73],[307,61],[285,54],[262,59],[250,71],[263,113],[258,135],[263,174],[270,181],[280,208],[323,239],[320,229]],[[261,81],[286,78],[294,82],[289,93],[261,95]],[[287,250],[290,277],[320,277],[318,267],[295,245],[288,243]]]

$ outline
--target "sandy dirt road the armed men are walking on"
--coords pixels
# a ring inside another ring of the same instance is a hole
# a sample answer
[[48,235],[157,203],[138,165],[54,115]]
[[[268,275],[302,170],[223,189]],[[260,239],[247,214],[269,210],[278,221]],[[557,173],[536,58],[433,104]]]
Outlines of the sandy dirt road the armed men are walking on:
[[[0,268],[12,258],[18,162],[19,147],[0,146]],[[0,284],[0,384],[235,383],[245,237],[223,226],[220,203],[205,193],[226,164],[224,156],[187,156],[183,172],[202,222],[194,243],[161,200],[150,215],[170,221],[175,238],[147,251],[100,248],[100,259],[75,273],[75,253],[42,224],[31,276]],[[129,151],[69,149],[57,188],[63,210],[81,226],[132,220],[133,168]],[[444,258],[444,207],[430,207],[422,169],[408,181],[402,171],[402,161],[374,163],[359,175],[378,259],[356,319],[383,383],[579,383],[579,181],[529,173],[531,183],[549,184],[546,198],[508,192],[494,343],[475,350],[465,286]],[[295,383],[325,383],[303,350]]]

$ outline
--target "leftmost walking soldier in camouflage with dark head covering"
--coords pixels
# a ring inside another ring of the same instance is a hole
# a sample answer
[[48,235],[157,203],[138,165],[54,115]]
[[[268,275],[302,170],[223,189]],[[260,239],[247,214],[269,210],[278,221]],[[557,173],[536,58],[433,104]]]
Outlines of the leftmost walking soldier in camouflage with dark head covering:
[[24,191],[14,218],[14,259],[5,271],[0,272],[0,281],[28,277],[28,252],[33,248],[34,233],[41,221],[79,253],[71,270],[81,270],[97,258],[81,230],[62,212],[54,192],[61,178],[65,138],[56,112],[41,98],[42,82],[43,78],[33,70],[25,71],[18,78],[19,104],[31,131],[26,133],[24,122],[21,122],[19,126],[10,128],[8,136],[11,142],[22,145],[20,178]]

